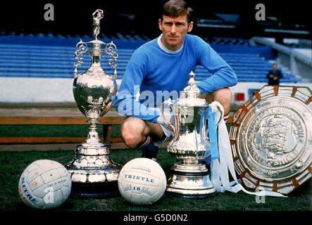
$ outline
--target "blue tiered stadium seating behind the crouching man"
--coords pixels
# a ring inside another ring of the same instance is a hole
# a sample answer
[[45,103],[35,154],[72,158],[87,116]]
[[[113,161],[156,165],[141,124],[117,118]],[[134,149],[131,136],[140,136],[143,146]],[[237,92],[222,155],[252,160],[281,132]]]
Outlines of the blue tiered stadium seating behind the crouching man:
[[[123,73],[132,52],[148,37],[116,34],[120,39],[114,41],[118,46],[118,79]],[[131,38],[130,38],[131,37]],[[85,37],[87,38],[87,37]],[[0,37],[0,76],[1,77],[73,77],[74,46],[80,38],[70,37]],[[82,39],[84,39],[82,37]],[[105,37],[105,39],[107,39]],[[105,40],[104,39],[104,40]],[[237,73],[239,82],[266,82],[266,73],[273,59],[272,49],[266,46],[249,46],[246,39],[216,38],[206,41]],[[37,44],[37,43],[40,43]],[[265,52],[265,53],[263,53]],[[262,55],[261,55],[262,54]],[[106,61],[103,67],[112,73]],[[90,58],[85,57],[80,71],[90,65]],[[281,82],[299,82],[300,79],[289,72],[282,71]],[[210,76],[208,74],[208,76]],[[196,80],[207,77],[207,71],[201,66],[196,68]]]

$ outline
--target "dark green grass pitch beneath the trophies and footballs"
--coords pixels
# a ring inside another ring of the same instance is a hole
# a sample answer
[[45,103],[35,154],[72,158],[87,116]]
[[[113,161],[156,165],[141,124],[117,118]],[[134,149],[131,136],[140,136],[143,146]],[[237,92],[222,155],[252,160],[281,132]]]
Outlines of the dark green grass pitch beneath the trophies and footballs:
[[[112,150],[111,158],[122,165],[133,158],[138,158],[138,150]],[[27,151],[27,152],[1,152],[0,153],[0,211],[25,211],[32,210],[23,204],[18,195],[18,179],[27,165],[39,159],[56,160],[65,164],[74,157],[73,150],[58,151]],[[170,157],[166,149],[161,149],[158,162],[170,176],[170,167],[175,159]],[[205,199],[176,198],[163,195],[163,198],[151,206],[136,206],[127,203],[122,197],[107,199],[79,199],[68,198],[57,211],[80,210],[130,210],[130,211],[199,211],[199,210],[312,210],[311,199],[312,184],[308,182],[299,187],[288,198],[266,197],[266,203],[256,203],[254,195],[239,193],[219,193]]]

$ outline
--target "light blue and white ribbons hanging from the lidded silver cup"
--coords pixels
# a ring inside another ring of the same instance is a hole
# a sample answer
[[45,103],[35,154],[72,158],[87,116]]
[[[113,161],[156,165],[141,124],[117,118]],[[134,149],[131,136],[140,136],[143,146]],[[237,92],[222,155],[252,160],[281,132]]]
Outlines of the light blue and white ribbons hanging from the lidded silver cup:
[[[222,111],[221,113],[220,110]],[[216,188],[216,191],[230,191],[233,193],[244,191],[244,193],[250,195],[287,197],[274,191],[261,190],[258,192],[250,192],[239,183],[239,179],[237,179],[235,174],[227,127],[223,118],[220,120],[220,116],[223,115],[223,112],[223,106],[218,101],[214,101],[208,105],[208,131],[211,143],[211,182]],[[220,120],[220,122],[217,124],[218,120]],[[234,181],[230,181],[229,171]]]

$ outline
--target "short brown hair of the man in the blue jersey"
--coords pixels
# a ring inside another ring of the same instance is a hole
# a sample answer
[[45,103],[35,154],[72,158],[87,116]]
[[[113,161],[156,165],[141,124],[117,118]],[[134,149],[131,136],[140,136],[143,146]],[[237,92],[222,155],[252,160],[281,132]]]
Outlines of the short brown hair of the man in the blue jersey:
[[163,11],[161,15],[161,20],[163,20],[163,15],[166,16],[179,16],[187,15],[187,23],[192,22],[192,13],[193,10],[187,3],[183,0],[170,0],[166,4],[163,4]]

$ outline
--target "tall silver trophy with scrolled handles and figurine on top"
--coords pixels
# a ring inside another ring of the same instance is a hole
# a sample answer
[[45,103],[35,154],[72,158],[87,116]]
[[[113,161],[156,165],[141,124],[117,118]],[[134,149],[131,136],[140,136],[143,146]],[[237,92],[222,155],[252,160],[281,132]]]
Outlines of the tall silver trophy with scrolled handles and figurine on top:
[[[114,163],[110,156],[109,146],[102,143],[96,131],[96,124],[112,105],[116,96],[117,85],[117,49],[116,45],[104,43],[97,39],[103,11],[93,13],[94,40],[80,40],[75,51],[75,70],[73,94],[77,107],[88,118],[90,123],[87,140],[77,146],[75,159],[65,165],[73,181],[72,195],[80,197],[105,197],[118,194],[118,176],[121,166]],[[91,48],[88,48],[88,44]],[[91,66],[83,73],[77,68],[82,65],[82,55],[89,53],[92,58]],[[108,63],[114,68],[114,74],[108,75],[101,68],[101,57],[107,56]]]

